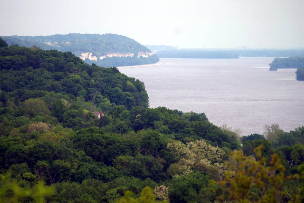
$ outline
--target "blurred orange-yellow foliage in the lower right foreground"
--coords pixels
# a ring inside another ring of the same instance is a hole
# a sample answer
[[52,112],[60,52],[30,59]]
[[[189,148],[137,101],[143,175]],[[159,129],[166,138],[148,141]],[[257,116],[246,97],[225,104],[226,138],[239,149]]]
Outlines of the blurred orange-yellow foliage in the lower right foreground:
[[257,160],[246,157],[241,151],[230,154],[229,169],[223,181],[218,184],[223,194],[218,201],[233,202],[282,202],[285,196],[283,189],[286,180],[285,168],[277,154],[271,156],[269,163],[261,156],[263,146],[254,152]]

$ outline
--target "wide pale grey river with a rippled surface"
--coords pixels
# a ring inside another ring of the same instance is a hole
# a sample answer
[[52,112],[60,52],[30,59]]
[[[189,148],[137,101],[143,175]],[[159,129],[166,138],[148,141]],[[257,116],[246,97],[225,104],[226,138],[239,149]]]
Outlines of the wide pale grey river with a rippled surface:
[[143,81],[151,108],[204,112],[217,126],[264,132],[276,123],[284,131],[304,126],[304,81],[296,69],[268,71],[272,57],[172,59],[158,66],[119,68]]

